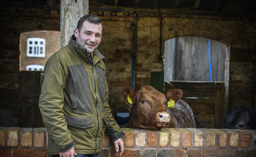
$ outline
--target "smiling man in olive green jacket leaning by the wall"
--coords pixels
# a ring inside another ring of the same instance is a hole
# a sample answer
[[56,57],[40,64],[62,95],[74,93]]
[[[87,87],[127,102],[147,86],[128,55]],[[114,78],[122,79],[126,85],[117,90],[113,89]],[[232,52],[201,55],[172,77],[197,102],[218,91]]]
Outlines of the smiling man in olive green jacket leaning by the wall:
[[45,64],[39,108],[48,131],[48,155],[99,157],[105,129],[116,156],[124,151],[124,133],[108,104],[104,56],[97,49],[102,30],[100,18],[83,16],[69,44]]

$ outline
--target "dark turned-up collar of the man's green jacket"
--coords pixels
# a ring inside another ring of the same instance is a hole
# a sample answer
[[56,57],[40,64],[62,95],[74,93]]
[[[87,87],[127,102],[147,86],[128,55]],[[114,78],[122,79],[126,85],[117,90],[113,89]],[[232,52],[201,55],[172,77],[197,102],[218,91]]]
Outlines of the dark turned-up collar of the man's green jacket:
[[[86,51],[85,48],[80,48],[80,47],[77,46],[76,39],[77,39],[77,38],[76,38],[75,35],[73,34],[73,35],[71,36],[70,40],[69,40],[69,46],[71,46],[72,48],[74,48],[82,57],[86,58],[85,60],[86,60],[86,62],[87,62],[87,61],[88,61],[87,57],[89,57],[89,54],[88,54],[88,52]],[[86,54],[87,57],[84,56],[84,54]],[[93,52],[93,54],[94,54],[94,56],[96,55],[96,56],[99,58],[99,60],[105,58],[104,55],[102,55],[98,49],[95,49],[94,52]],[[90,60],[90,58],[89,58],[89,60]],[[95,62],[95,63],[96,63],[96,62]]]

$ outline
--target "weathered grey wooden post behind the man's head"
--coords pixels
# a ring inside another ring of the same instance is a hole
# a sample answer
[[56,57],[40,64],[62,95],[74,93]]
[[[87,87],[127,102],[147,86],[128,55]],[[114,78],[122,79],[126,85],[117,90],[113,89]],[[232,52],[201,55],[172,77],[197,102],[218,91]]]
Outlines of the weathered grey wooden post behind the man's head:
[[89,0],[61,0],[60,2],[60,46],[69,43],[78,20],[89,13]]

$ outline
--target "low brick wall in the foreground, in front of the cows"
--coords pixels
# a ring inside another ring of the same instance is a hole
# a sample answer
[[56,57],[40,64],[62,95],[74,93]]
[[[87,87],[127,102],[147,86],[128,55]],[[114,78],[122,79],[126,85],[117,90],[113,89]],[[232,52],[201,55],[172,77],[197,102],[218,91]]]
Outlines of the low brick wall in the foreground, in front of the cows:
[[[122,128],[123,157],[255,157],[256,130],[184,129],[159,131]],[[47,157],[45,128],[0,127],[2,157]],[[105,133],[101,157],[114,157]]]

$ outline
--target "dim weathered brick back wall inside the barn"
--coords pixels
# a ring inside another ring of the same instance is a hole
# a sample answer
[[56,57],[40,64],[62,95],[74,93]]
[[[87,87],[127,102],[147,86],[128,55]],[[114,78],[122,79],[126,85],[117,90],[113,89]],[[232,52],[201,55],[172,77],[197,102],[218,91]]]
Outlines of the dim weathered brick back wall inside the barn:
[[[16,3],[15,3],[16,4]],[[0,126],[43,127],[42,123],[26,125],[22,117],[27,112],[38,113],[39,96],[21,95],[20,34],[32,30],[60,31],[60,10],[2,5],[0,7],[0,110],[8,113],[6,125]],[[89,10],[103,21],[103,39],[99,46],[105,55],[104,62],[109,86],[109,104],[112,112],[129,109],[124,102],[121,88],[132,85],[132,26],[133,13]],[[160,16],[153,13],[137,13],[135,16],[135,90],[150,84],[150,72],[164,70],[160,53]],[[215,15],[162,15],[162,55],[164,41],[180,36],[199,36],[217,40],[230,46],[228,112],[240,103],[254,108],[256,22],[250,18],[233,18]],[[32,90],[32,89],[31,89]],[[34,104],[26,106],[24,102]],[[20,112],[20,109],[23,109]],[[26,112],[25,112],[26,111]],[[1,115],[2,116],[2,115]],[[2,119],[2,117],[1,117]],[[37,118],[40,120],[40,114]],[[28,120],[28,119],[27,119]],[[40,120],[41,121],[41,120]],[[25,126],[24,126],[25,125]]]

